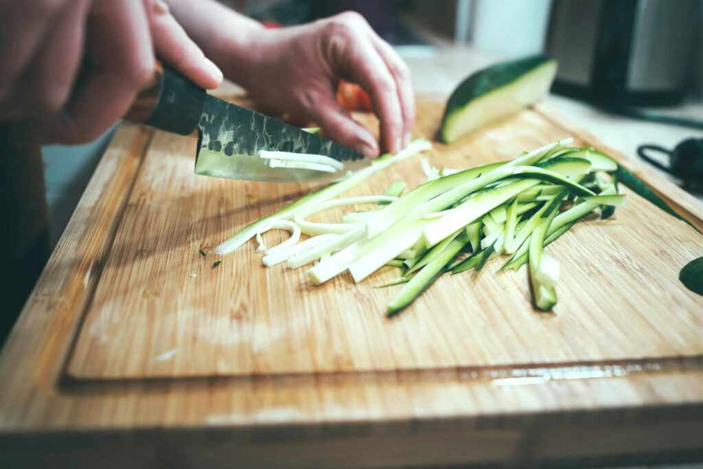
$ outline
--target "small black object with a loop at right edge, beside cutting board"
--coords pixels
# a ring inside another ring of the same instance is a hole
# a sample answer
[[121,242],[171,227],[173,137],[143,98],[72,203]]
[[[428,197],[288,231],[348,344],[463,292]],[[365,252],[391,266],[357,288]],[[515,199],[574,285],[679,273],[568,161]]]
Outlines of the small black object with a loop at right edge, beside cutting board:
[[[650,152],[669,156],[669,165],[652,158]],[[703,139],[686,139],[671,151],[658,145],[640,145],[637,153],[643,160],[681,179],[686,188],[703,189]]]

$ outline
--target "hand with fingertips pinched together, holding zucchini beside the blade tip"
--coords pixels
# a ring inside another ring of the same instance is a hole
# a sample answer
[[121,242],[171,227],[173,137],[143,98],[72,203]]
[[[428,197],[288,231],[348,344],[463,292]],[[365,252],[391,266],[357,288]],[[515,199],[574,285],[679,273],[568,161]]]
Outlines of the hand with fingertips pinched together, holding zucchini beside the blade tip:
[[347,79],[370,94],[383,148],[396,153],[406,146],[415,120],[410,73],[361,15],[347,12],[256,36],[245,54],[219,65],[265,111],[285,112],[298,122],[314,120],[330,138],[378,155],[370,131],[335,99],[337,82]]

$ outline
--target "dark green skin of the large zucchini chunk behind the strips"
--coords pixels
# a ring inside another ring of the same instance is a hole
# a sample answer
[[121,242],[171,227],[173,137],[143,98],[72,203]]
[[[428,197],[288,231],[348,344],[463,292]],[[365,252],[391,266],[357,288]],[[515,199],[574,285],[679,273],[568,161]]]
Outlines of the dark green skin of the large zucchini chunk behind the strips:
[[451,143],[446,136],[445,128],[453,113],[462,110],[476,98],[516,82],[520,77],[548,64],[556,65],[556,61],[543,55],[529,56],[491,65],[491,67],[479,70],[467,77],[453,91],[446,103],[444,116],[439,127],[439,140],[443,143]]

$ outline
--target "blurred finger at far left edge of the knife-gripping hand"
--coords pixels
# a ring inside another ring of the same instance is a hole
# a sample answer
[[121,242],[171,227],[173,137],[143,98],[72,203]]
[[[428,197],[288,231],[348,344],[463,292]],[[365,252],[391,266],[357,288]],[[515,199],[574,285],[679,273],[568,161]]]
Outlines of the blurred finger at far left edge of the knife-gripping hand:
[[[16,118],[27,97],[22,75],[49,34],[60,4],[46,1],[5,1],[0,18],[0,119]],[[27,13],[31,11],[31,13]],[[20,103],[20,105],[18,105]]]

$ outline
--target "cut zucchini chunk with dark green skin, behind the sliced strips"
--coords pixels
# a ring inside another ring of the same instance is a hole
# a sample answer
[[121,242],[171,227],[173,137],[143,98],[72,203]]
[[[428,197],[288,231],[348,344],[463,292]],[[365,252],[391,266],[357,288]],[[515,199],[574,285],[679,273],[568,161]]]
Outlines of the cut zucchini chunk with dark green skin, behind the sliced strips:
[[489,122],[526,108],[546,94],[556,72],[556,60],[541,55],[498,63],[475,72],[449,97],[439,139],[452,143]]

